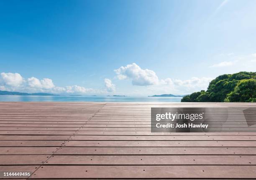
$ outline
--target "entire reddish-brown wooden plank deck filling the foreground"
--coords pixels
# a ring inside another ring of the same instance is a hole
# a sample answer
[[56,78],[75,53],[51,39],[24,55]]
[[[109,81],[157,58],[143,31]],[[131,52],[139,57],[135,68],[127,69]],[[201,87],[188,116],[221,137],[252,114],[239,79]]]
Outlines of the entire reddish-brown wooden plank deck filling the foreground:
[[256,103],[0,102],[0,173],[30,172],[28,179],[253,179],[254,132],[150,132],[151,107],[241,106]]

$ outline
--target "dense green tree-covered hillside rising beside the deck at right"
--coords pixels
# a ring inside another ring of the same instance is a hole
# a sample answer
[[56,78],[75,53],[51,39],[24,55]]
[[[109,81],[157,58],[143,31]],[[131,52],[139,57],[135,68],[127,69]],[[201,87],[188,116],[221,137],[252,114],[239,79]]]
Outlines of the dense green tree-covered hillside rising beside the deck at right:
[[220,75],[207,91],[186,95],[181,102],[256,102],[256,72]]

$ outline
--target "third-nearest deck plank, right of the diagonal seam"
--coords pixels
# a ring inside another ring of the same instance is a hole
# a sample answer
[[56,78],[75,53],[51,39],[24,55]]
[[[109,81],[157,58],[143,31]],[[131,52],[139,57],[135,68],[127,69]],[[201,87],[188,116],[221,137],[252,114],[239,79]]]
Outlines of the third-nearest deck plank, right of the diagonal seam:
[[62,147],[59,155],[256,155],[256,148],[236,147]]

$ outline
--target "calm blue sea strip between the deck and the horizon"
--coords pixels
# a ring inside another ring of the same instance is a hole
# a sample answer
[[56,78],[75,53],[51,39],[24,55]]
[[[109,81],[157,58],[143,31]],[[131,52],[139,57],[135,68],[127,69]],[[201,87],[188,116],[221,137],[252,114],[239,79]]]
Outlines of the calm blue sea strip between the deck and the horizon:
[[182,97],[0,95],[0,102],[180,102]]

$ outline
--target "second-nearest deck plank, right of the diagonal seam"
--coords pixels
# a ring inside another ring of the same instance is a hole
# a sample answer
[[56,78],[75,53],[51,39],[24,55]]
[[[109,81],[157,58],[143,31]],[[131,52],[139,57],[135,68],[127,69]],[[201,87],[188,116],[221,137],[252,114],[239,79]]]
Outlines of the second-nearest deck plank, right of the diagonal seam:
[[256,155],[54,155],[47,165],[256,165]]

